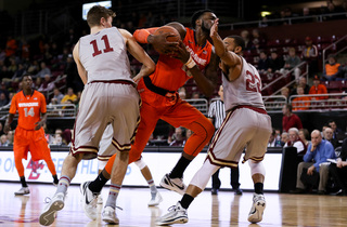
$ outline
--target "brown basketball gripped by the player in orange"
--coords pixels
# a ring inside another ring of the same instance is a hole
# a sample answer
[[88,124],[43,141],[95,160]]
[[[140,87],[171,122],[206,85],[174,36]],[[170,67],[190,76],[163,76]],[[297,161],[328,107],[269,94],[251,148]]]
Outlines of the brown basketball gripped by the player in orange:
[[166,38],[170,36],[169,32],[162,35],[151,35],[149,37],[149,43],[153,45],[153,48],[164,54],[172,53],[177,51],[178,42],[168,42]]

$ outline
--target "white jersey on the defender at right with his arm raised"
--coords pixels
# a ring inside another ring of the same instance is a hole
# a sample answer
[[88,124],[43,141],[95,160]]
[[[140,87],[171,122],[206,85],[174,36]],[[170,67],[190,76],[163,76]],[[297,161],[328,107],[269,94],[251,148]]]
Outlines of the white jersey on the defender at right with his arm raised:
[[265,109],[261,97],[261,80],[258,70],[248,64],[243,57],[243,67],[240,77],[234,81],[229,81],[222,74],[222,85],[224,91],[226,110],[231,110],[235,106],[246,105]]

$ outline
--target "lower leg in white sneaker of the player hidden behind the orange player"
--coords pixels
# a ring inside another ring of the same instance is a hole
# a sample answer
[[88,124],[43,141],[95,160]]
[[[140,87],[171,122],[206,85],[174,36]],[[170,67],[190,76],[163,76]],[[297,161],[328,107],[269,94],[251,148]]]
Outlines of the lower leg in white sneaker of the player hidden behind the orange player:
[[142,157],[141,159],[139,159],[138,161],[134,162],[138,168],[140,169],[143,177],[145,178],[145,181],[147,182],[149,184],[149,187],[151,189],[151,200],[149,202],[149,205],[150,206],[153,206],[153,205],[158,205],[162,201],[163,201],[163,198],[159,193],[159,191],[156,189],[156,186],[154,184],[154,179],[153,179],[153,176],[152,176],[152,173],[150,171],[150,168],[146,165],[146,163],[143,161]]

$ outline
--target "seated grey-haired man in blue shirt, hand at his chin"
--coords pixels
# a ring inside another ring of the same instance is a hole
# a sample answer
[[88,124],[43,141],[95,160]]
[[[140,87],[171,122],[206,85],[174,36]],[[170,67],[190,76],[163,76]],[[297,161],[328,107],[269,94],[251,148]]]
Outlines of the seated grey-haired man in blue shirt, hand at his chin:
[[[300,178],[304,169],[307,169],[306,174],[308,176],[311,176],[314,173],[319,173],[318,193],[324,195],[326,183],[329,179],[329,165],[323,163],[326,162],[326,159],[335,159],[335,157],[336,156],[333,145],[330,142],[322,139],[321,132],[314,130],[311,133],[311,144],[308,146],[308,149],[304,156],[304,162],[300,162],[297,166],[296,189],[291,192],[306,192],[307,183],[303,182]],[[314,162],[312,162],[312,160]]]

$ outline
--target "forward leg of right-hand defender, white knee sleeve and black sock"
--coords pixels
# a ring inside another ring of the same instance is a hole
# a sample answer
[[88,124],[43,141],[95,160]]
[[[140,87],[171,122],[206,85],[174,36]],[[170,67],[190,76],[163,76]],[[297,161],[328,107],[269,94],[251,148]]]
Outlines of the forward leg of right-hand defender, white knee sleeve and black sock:
[[220,166],[211,164],[206,160],[203,166],[195,173],[190,185],[188,186],[182,199],[177,202],[170,212],[157,219],[157,225],[183,224],[188,222],[187,210],[206,187],[211,175],[219,170]]

